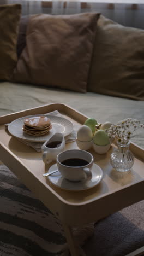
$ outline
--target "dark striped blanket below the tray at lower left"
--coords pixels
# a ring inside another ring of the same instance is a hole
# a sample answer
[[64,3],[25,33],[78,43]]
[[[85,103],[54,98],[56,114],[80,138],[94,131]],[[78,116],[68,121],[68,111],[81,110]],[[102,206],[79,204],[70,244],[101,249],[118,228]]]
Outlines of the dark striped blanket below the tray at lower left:
[[65,243],[61,222],[4,165],[0,177],[0,255],[56,255]]

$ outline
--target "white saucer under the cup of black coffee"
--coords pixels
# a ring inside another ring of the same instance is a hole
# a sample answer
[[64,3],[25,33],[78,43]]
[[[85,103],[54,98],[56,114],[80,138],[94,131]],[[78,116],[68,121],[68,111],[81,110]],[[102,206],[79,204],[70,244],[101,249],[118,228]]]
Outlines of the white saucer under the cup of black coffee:
[[[57,170],[57,164],[52,165],[48,172],[55,170]],[[50,176],[47,176],[47,178],[53,185],[56,185],[58,188],[66,190],[86,190],[93,188],[101,181],[103,178],[103,171],[98,165],[93,164],[92,179],[87,179],[86,181],[70,182],[63,178],[60,172],[53,173]]]

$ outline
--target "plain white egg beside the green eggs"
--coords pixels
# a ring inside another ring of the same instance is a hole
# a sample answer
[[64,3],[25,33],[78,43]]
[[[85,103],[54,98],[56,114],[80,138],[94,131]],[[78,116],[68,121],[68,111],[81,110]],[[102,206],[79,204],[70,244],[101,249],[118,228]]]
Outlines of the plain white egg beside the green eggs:
[[93,132],[87,125],[82,125],[77,131],[78,141],[88,142],[93,139]]

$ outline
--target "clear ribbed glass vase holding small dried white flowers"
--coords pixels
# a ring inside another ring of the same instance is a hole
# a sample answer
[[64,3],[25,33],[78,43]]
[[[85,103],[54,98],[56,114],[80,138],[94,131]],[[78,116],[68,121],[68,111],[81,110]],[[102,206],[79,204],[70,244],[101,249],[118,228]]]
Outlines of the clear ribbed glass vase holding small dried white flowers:
[[127,172],[134,164],[134,155],[129,150],[129,141],[117,142],[118,148],[111,154],[110,162],[119,172]]

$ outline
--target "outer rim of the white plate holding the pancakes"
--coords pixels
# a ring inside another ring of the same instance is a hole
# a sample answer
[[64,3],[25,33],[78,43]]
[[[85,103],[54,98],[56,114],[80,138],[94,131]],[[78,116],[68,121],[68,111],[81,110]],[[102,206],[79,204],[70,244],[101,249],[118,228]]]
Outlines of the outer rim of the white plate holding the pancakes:
[[[70,128],[69,128],[69,131],[67,131],[65,134],[64,134],[64,137],[68,136],[73,130],[74,130],[74,125],[73,123],[67,119],[67,118],[64,118],[64,117],[59,117],[58,115],[49,115],[49,114],[35,114],[35,115],[26,115],[25,117],[21,117],[21,118],[17,118],[15,120],[13,120],[9,125],[8,125],[8,131],[9,133],[16,137],[16,138],[19,138],[19,139],[22,139],[23,141],[29,141],[29,142],[45,142],[47,139],[49,139],[51,136],[49,135],[44,135],[44,136],[30,136],[28,138],[23,138],[21,136],[16,136],[15,133],[13,133],[13,130],[11,131],[11,127],[13,127],[13,125],[16,123],[16,121],[19,121],[19,120],[23,120],[23,119],[26,119],[26,118],[30,118],[30,117],[38,117],[38,115],[43,115],[43,116],[46,116],[46,117],[49,117],[50,119],[52,118],[57,118],[59,120],[65,120],[66,122],[69,123],[70,125]],[[63,125],[62,125],[63,126]],[[63,126],[63,127],[66,127],[66,126]],[[54,134],[54,133],[53,133]],[[52,134],[52,135],[53,135]],[[42,137],[45,137],[45,138],[42,138]]]

